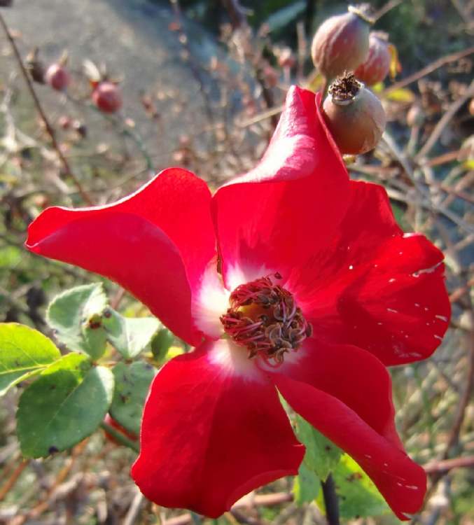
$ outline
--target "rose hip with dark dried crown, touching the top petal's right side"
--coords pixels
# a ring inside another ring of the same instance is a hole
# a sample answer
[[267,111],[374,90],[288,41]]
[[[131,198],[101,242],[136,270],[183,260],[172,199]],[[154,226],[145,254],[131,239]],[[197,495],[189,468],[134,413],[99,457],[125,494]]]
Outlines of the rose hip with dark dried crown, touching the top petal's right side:
[[330,85],[323,102],[323,117],[345,155],[360,155],[375,148],[386,124],[379,99],[353,73],[344,74]]

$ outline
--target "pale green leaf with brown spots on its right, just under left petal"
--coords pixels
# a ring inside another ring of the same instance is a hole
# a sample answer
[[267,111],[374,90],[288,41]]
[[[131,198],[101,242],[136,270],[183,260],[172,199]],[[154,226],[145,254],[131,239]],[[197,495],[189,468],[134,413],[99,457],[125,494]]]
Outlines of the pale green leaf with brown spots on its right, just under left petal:
[[46,312],[58,341],[69,349],[98,359],[105,351],[106,332],[102,326],[107,297],[102,284],[76,286],[57,295]]

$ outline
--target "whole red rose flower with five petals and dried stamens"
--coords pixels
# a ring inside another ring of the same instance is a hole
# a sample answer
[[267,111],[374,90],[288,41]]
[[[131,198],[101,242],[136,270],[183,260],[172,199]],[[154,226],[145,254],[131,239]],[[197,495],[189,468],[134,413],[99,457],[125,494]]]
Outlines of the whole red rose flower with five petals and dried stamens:
[[278,388],[400,519],[421,506],[385,365],[440,344],[442,253],[403,234],[381,186],[349,181],[318,106],[293,87],[258,166],[215,195],[165,169],[114,204],[50,208],[29,227],[31,251],[117,281],[196,346],[162,367],[144,409],[132,477],[159,505],[217,517],[296,474],[305,450]]

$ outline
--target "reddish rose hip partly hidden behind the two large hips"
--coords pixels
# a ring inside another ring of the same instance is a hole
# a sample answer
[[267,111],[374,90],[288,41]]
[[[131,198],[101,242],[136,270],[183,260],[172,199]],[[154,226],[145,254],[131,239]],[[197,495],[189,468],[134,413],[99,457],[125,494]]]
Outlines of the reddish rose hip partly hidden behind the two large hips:
[[389,36],[383,31],[372,31],[368,57],[354,71],[354,75],[365,85],[377,84],[389,74],[390,62]]

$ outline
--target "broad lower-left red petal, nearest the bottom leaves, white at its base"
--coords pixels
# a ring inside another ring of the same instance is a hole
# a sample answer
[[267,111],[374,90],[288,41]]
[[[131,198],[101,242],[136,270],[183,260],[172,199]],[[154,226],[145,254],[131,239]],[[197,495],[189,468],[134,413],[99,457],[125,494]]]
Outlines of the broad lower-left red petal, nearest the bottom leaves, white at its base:
[[298,472],[305,449],[277,391],[230,345],[207,342],[153,381],[132,477],[158,505],[218,517],[252,489]]

